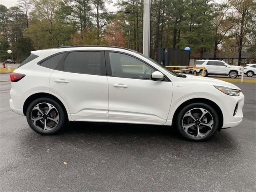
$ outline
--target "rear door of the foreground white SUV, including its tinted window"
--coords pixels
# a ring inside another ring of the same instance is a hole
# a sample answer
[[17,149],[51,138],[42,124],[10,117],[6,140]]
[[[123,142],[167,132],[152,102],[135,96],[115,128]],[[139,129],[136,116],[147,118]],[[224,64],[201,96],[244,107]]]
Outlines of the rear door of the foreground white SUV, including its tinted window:
[[107,122],[104,51],[66,52],[50,76],[50,90],[66,101],[72,120]]

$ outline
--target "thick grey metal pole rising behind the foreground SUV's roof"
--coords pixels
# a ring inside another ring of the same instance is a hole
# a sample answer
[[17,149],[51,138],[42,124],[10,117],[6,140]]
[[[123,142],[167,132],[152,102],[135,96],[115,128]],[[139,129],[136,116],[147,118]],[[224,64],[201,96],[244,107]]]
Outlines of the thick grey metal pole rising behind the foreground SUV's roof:
[[150,45],[150,0],[144,0],[143,10],[143,54],[149,57]]

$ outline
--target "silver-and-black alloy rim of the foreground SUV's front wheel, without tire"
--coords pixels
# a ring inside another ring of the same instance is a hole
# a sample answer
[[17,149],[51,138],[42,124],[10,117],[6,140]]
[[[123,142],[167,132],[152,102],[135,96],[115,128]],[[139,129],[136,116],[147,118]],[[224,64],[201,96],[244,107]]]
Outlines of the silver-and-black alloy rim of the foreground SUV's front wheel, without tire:
[[193,108],[186,112],[182,119],[182,127],[185,133],[195,138],[208,135],[213,125],[212,114],[204,108]]

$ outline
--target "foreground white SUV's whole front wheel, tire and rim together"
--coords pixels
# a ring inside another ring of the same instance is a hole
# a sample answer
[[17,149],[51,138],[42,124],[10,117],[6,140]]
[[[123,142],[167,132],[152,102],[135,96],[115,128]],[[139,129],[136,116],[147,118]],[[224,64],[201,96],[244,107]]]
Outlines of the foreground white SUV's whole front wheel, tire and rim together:
[[[202,116],[203,111],[205,112],[204,116]],[[187,140],[196,142],[205,141],[212,137],[218,130],[219,124],[217,112],[204,103],[192,103],[185,106],[180,110],[176,120],[176,128],[180,134]],[[186,125],[189,126],[185,127]]]

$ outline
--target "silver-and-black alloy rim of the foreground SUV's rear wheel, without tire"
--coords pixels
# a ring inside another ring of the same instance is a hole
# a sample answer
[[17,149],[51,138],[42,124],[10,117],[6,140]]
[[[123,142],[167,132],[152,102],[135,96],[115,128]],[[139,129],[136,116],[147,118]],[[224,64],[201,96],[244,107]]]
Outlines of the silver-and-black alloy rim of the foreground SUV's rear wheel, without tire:
[[31,120],[36,128],[50,131],[58,125],[59,113],[52,104],[39,103],[32,109]]

